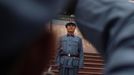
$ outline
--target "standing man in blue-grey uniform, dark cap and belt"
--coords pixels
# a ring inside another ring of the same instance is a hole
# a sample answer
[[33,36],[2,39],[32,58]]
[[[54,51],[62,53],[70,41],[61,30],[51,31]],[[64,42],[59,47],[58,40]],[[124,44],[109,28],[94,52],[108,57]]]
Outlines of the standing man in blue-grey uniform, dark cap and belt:
[[60,75],[77,75],[83,67],[83,47],[80,37],[74,35],[76,24],[67,23],[67,35],[60,38],[56,63]]

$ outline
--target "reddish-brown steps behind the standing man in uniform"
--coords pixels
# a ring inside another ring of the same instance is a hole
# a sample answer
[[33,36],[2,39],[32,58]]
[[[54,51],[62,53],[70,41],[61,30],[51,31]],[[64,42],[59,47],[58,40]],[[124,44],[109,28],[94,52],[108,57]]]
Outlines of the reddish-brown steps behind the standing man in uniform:
[[[52,71],[58,75],[58,67],[52,62]],[[84,67],[78,75],[103,75],[104,61],[98,53],[84,53]]]

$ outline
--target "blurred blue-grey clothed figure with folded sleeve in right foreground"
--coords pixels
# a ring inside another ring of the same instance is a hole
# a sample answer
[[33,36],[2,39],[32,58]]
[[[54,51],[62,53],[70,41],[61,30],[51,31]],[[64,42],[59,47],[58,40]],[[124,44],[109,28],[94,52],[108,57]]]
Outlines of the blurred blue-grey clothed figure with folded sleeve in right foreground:
[[104,56],[105,75],[134,74],[134,4],[128,0],[78,0],[76,20]]

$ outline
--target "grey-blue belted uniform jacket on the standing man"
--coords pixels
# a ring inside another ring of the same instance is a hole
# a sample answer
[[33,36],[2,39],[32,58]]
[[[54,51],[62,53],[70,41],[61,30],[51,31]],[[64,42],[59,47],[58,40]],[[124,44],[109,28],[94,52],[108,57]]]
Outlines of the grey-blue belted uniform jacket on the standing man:
[[[62,54],[78,55],[79,57],[62,56]],[[83,66],[82,40],[78,36],[63,36],[60,38],[56,63],[63,67]]]

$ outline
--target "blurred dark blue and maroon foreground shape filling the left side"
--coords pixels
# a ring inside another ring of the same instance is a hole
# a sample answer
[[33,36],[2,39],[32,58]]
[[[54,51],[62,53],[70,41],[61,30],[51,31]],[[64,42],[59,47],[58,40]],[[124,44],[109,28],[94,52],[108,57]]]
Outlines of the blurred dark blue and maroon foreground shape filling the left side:
[[45,29],[46,24],[63,10],[67,2],[0,0],[0,75],[15,75],[11,71],[14,69],[22,69],[21,75],[37,75],[48,65],[54,43],[51,43],[51,33]]

